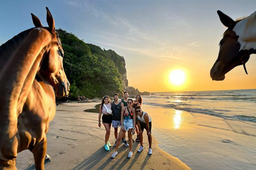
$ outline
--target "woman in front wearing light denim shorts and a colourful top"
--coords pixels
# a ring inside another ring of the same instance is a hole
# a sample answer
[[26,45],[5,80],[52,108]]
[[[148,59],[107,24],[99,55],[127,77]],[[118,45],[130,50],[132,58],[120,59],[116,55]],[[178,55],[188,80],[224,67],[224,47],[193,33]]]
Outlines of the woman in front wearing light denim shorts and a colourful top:
[[133,100],[128,99],[127,106],[122,108],[122,112],[121,112],[122,128],[121,128],[121,131],[119,132],[118,139],[116,142],[116,147],[111,158],[115,158],[116,155],[118,154],[117,152],[118,146],[126,131],[128,131],[128,138],[130,142],[130,151],[128,154],[128,158],[132,157],[132,134],[135,133],[135,117],[136,117],[135,109],[132,107],[132,105],[133,105]]

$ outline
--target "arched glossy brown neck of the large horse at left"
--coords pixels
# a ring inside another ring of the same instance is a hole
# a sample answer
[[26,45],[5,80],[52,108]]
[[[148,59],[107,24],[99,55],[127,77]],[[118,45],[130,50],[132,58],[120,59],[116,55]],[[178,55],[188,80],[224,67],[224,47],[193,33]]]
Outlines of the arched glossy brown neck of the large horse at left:
[[1,71],[0,119],[7,117],[10,122],[17,123],[50,41],[50,32],[39,28],[31,30]]

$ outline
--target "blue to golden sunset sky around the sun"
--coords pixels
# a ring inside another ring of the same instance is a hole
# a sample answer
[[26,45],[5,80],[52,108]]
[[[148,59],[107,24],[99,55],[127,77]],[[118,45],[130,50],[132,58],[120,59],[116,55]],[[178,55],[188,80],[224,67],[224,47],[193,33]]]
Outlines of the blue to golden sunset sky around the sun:
[[[217,10],[234,20],[256,11],[256,1],[0,1],[0,45],[34,27],[30,13],[46,23],[49,7],[55,27],[124,56],[129,86],[140,91],[256,89],[256,56],[224,81],[212,81],[225,26]],[[169,74],[185,71],[182,86]]]

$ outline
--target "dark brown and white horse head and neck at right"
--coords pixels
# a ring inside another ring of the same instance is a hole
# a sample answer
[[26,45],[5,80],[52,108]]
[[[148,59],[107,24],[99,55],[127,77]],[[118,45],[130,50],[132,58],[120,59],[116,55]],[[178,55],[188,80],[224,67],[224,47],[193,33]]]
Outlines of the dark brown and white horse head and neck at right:
[[224,80],[225,74],[238,65],[243,65],[251,54],[256,54],[256,12],[234,21],[228,15],[217,11],[220,21],[228,27],[220,41],[217,61],[211,69],[212,80]]

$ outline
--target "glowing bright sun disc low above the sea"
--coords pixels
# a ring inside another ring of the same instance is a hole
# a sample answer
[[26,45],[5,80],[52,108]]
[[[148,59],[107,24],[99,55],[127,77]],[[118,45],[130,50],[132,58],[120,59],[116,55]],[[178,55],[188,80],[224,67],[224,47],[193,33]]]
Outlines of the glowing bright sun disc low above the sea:
[[173,70],[169,74],[169,81],[173,86],[181,86],[186,81],[186,74],[180,69]]

